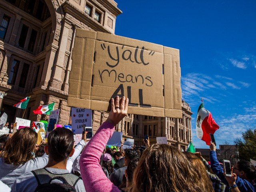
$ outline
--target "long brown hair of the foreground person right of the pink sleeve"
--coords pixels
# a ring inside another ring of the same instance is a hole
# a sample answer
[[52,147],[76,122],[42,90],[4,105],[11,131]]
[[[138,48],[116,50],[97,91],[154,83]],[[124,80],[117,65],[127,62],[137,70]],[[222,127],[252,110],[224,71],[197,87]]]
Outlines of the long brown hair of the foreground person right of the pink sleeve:
[[182,152],[167,144],[153,144],[138,162],[130,192],[206,192],[200,181]]

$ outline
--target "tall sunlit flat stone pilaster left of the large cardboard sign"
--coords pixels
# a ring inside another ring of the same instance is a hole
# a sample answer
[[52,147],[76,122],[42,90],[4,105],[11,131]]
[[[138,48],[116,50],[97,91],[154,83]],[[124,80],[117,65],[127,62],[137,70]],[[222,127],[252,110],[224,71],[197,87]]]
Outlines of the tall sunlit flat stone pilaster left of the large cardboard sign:
[[[54,67],[54,73],[53,73],[53,81],[56,80],[56,83],[58,84],[58,89],[61,89],[61,85],[62,85],[62,79],[61,79],[61,75],[62,75],[62,70],[63,70],[63,63],[64,63],[64,57],[65,57],[65,52],[66,52],[66,47],[67,47],[67,42],[68,42],[68,32],[69,29],[71,28],[71,23],[68,22],[67,20],[63,20],[63,29],[62,29],[62,36],[61,36],[61,40],[60,40],[60,46],[58,48],[58,54],[56,56],[57,60],[56,60],[56,64]],[[60,82],[60,83],[58,83]],[[52,83],[54,84],[54,83]],[[55,84],[56,85],[56,84]]]

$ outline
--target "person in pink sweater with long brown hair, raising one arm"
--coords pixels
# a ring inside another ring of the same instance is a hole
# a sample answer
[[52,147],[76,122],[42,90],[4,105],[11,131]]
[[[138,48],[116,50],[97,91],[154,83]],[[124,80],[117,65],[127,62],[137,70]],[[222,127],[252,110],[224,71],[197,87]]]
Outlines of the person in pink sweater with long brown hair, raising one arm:
[[[116,124],[126,115],[128,99],[111,99],[111,111],[80,157],[80,170],[86,192],[120,192],[99,164],[101,154]],[[167,144],[146,148],[134,171],[130,192],[206,192],[192,164],[178,149]],[[212,190],[213,191],[213,190]],[[210,191],[210,192],[212,192]]]

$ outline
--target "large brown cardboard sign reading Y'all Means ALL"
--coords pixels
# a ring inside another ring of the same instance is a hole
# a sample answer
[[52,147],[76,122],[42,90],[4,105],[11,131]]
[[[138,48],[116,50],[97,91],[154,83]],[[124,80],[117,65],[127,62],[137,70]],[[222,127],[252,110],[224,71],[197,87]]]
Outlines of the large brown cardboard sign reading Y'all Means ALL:
[[109,111],[117,95],[129,114],[182,118],[179,50],[77,29],[68,106]]

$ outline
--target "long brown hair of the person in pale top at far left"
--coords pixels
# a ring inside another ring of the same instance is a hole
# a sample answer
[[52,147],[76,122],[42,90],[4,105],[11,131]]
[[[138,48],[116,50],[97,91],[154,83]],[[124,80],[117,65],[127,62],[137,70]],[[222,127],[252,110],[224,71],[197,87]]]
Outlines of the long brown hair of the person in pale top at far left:
[[31,128],[19,129],[6,142],[5,150],[1,153],[7,164],[20,165],[33,158],[37,141],[37,133]]

